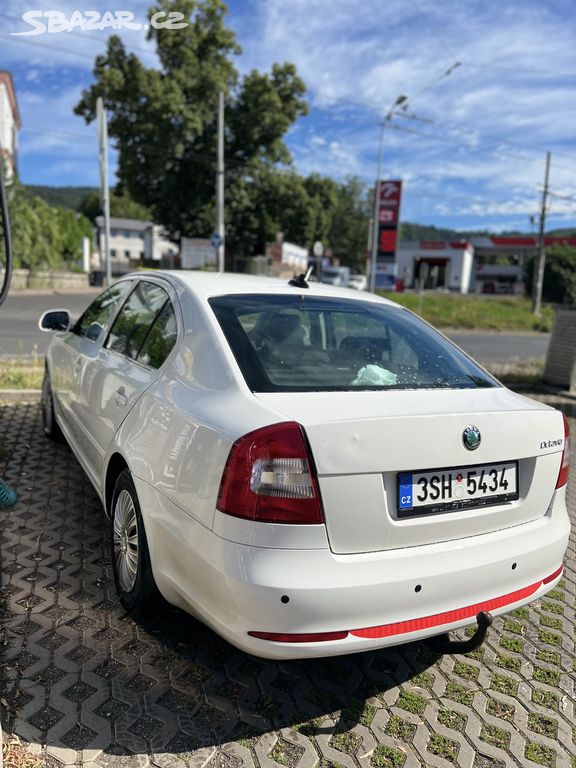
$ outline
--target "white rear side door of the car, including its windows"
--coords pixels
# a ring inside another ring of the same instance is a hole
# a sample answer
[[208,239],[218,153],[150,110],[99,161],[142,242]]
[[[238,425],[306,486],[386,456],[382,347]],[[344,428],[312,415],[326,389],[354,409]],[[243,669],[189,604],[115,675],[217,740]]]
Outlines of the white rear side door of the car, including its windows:
[[140,395],[158,378],[178,336],[175,296],[160,280],[139,280],[78,383],[85,468],[100,488],[104,457]]

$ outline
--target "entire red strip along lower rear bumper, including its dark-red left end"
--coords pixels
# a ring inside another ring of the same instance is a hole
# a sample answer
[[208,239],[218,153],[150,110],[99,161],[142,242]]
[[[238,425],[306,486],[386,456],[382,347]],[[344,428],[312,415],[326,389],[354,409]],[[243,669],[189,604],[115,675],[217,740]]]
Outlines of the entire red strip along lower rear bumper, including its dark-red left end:
[[564,566],[546,576],[545,579],[537,581],[535,584],[530,584],[528,587],[517,589],[515,592],[508,592],[507,595],[501,597],[494,597],[492,600],[485,600],[483,603],[474,603],[474,605],[467,605],[465,608],[457,608],[453,611],[445,611],[444,613],[435,613],[432,616],[424,616],[420,619],[409,619],[408,621],[397,621],[394,624],[381,624],[379,627],[367,627],[366,629],[351,629],[341,630],[338,632],[312,632],[306,634],[292,634],[288,632],[248,632],[250,637],[256,637],[259,640],[269,640],[276,643],[320,643],[330,642],[333,640],[344,640],[350,635],[356,637],[365,637],[374,639],[377,637],[391,637],[392,635],[404,635],[409,632],[419,632],[422,629],[429,629],[430,627],[439,627],[443,624],[452,624],[456,621],[462,621],[462,619],[470,619],[477,616],[480,611],[493,611],[496,608],[502,608],[505,605],[511,605],[517,603],[519,600],[524,600],[530,595],[533,595],[543,584],[549,584],[554,579],[558,578]]

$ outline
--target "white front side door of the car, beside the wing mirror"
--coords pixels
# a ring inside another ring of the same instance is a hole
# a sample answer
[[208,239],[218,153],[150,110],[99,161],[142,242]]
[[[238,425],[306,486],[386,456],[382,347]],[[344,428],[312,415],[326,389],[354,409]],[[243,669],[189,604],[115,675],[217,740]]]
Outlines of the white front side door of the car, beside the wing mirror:
[[67,333],[54,339],[50,348],[49,368],[55,405],[61,426],[76,452],[80,451],[83,442],[77,396],[85,361],[98,354],[106,331],[133,286],[133,280],[122,280],[107,288]]

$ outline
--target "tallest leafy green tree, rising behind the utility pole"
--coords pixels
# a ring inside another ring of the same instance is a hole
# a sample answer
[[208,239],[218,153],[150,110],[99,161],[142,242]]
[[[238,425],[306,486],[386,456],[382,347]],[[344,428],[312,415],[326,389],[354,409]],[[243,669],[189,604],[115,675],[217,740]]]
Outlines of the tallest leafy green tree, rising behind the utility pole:
[[[189,19],[180,30],[149,30],[160,66],[145,67],[113,36],[98,56],[95,83],[85,90],[76,113],[95,118],[101,96],[109,115],[109,134],[119,150],[120,185],[150,208],[169,234],[209,236],[214,229],[218,93],[226,95],[227,242],[249,253],[263,231],[258,216],[274,216],[258,183],[270,180],[274,166],[290,155],[282,137],[306,113],[304,83],[291,64],[275,64],[269,74],[243,78],[232,63],[240,53],[224,24],[220,0],[161,0],[149,12],[179,11]],[[239,218],[235,218],[238,216]],[[250,220],[250,229],[242,224]]]

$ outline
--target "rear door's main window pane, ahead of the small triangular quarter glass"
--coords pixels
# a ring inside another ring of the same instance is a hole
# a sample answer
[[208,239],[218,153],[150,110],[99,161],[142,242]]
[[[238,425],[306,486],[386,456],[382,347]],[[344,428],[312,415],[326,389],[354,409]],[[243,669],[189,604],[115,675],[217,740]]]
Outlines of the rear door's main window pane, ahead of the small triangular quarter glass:
[[159,285],[145,280],[139,282],[110,329],[104,345],[106,349],[136,359],[142,342],[167,301],[168,294]]

